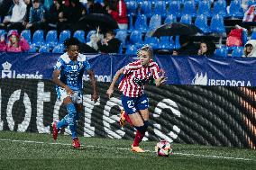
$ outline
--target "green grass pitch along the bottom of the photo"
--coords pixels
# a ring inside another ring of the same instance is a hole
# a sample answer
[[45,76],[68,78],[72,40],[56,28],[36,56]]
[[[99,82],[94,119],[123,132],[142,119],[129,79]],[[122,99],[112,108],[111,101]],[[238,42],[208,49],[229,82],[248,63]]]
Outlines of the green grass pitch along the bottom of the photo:
[[158,157],[156,141],[142,142],[145,153],[130,151],[132,140],[79,138],[81,149],[71,147],[70,136],[0,131],[0,169],[256,169],[256,151],[172,144],[173,155]]

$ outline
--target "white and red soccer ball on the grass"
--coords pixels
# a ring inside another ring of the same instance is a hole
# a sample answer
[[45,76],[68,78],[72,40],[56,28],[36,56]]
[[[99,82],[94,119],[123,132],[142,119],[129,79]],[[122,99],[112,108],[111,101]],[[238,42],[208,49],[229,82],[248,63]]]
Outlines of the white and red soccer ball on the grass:
[[167,140],[160,140],[155,147],[155,151],[160,157],[169,157],[172,153],[172,147]]

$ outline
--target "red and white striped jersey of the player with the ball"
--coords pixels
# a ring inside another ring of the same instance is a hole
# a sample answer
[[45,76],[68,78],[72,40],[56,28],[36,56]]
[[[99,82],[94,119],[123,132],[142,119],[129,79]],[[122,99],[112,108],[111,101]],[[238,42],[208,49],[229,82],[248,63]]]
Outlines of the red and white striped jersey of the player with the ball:
[[134,61],[123,67],[124,76],[118,88],[125,96],[138,97],[144,93],[144,85],[152,78],[158,79],[159,73],[160,67],[152,60],[147,67],[140,60]]

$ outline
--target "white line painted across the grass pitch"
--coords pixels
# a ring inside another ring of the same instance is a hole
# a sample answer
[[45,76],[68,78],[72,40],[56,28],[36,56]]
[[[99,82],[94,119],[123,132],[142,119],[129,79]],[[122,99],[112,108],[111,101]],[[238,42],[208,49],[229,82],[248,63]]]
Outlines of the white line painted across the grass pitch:
[[[0,141],[71,146],[70,144],[67,144],[67,143],[41,142],[41,141],[32,141],[32,140],[0,139]],[[118,150],[131,150],[131,148],[116,148],[116,147],[105,147],[105,146],[94,146],[94,145],[87,145],[87,146],[81,145],[81,146],[82,147],[87,147],[87,148],[106,148],[106,149],[118,149]],[[155,151],[145,150],[145,152],[155,152]],[[172,155],[187,156],[187,157],[208,157],[208,158],[224,158],[224,159],[233,159],[233,160],[254,161],[250,158],[243,158],[243,157],[222,157],[222,156],[213,156],[213,155],[211,156],[211,155],[200,155],[200,154],[186,154],[186,153],[180,153],[180,152],[174,152],[174,153],[172,153]]]

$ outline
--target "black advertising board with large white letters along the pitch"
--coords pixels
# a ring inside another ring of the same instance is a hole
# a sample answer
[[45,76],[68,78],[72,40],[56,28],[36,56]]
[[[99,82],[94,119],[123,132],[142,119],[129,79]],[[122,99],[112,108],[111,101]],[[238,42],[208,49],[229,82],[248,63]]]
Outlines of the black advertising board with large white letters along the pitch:
[[[90,100],[86,82],[84,115],[78,134],[85,137],[133,139],[129,125],[118,124],[120,94],[105,94],[109,83],[98,83],[100,98]],[[177,143],[235,148],[256,148],[255,87],[163,85],[147,86],[151,126],[144,140],[168,139]],[[53,120],[66,110],[57,100],[50,80],[0,79],[0,130],[50,133]],[[69,134],[69,129],[61,131]]]

